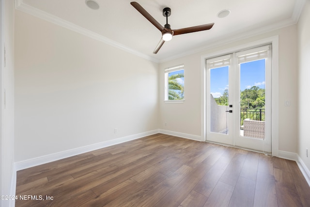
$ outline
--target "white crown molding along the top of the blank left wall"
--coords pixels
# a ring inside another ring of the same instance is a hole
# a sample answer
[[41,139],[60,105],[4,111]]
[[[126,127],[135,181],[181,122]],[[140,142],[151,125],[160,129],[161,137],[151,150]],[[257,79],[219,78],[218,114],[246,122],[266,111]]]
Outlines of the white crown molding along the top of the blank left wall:
[[15,8],[17,10],[20,10],[22,12],[25,12],[27,14],[30,14],[30,15],[33,15],[33,16],[36,16],[38,18],[41,18],[41,19],[44,19],[48,22],[51,22],[51,23],[54,23],[54,24],[57,24],[61,27],[64,27],[68,30],[71,30],[71,31],[74,31],[74,32],[78,32],[80,34],[83,34],[85,36],[88,36],[94,40],[97,40],[97,41],[100,41],[100,42],[103,42],[107,45],[110,45],[110,46],[113,46],[115,48],[119,48],[119,49],[122,49],[126,52],[129,52],[131,54],[134,54],[134,55],[137,55],[141,58],[144,58],[146,60],[149,60],[149,61],[152,61],[152,62],[155,62],[155,63],[159,63],[159,60],[158,59],[155,59],[153,57],[150,57],[148,55],[145,55],[137,50],[134,50],[132,48],[129,48],[129,47],[126,47],[114,40],[111,40],[103,35],[100,35],[98,33],[95,33],[95,32],[92,32],[90,30],[87,30],[83,27],[80,27],[76,24],[73,24],[69,21],[66,21],[66,20],[63,20],[62,18],[60,17],[57,17],[57,16],[54,16],[54,15],[51,15],[51,14],[48,14],[47,12],[44,12],[42,10],[39,10],[37,8],[34,8],[32,6],[29,6],[25,3],[23,3],[23,0],[15,0]]

